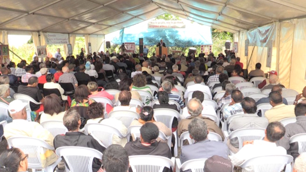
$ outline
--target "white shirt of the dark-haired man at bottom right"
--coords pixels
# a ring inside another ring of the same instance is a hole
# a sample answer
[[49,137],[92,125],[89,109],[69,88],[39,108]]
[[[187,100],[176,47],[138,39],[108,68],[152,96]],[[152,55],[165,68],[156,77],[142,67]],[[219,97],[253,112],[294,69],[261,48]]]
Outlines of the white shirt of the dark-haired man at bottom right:
[[[267,155],[287,155],[287,151],[281,146],[276,146],[276,143],[255,140],[253,144],[247,144],[236,154],[229,156],[229,159],[234,166],[240,166],[248,159]],[[250,166],[242,169],[242,172],[254,172],[254,168]]]

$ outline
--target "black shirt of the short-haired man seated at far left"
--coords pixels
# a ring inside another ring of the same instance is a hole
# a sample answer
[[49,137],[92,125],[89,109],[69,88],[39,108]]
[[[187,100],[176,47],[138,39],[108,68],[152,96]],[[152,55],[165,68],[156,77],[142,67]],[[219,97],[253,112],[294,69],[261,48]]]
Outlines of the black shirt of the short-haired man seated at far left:
[[[35,101],[40,102],[42,99],[42,95],[38,89],[38,87],[31,87],[31,86],[18,86],[18,93],[19,94],[25,94],[30,97],[32,97]],[[30,107],[32,111],[36,111],[39,109],[40,105],[36,105],[32,102],[30,102]]]

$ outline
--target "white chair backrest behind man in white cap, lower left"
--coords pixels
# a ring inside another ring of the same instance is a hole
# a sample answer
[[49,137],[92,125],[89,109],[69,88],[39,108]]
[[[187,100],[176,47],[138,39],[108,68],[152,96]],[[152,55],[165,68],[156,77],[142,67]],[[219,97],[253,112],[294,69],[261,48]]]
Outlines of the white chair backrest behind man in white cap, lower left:
[[21,149],[25,154],[29,154],[28,163],[30,169],[43,169],[40,158],[41,148],[54,150],[48,143],[30,137],[11,137],[8,144]]

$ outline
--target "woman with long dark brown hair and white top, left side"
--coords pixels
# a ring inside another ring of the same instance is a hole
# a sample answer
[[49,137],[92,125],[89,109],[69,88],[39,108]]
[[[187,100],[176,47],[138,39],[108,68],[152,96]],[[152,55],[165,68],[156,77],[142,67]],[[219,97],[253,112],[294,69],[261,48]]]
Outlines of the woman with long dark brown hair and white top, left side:
[[39,122],[62,121],[65,112],[61,105],[61,100],[56,94],[47,95],[43,101],[43,113],[40,115]]

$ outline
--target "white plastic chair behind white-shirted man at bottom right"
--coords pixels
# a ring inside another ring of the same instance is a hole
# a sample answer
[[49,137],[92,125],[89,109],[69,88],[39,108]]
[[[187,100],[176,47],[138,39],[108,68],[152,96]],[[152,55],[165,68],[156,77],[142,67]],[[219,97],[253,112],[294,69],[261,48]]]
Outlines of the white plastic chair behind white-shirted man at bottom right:
[[265,155],[246,160],[241,168],[246,168],[253,166],[254,172],[281,172],[284,169],[284,166],[289,167],[291,172],[290,163],[293,161],[291,155]]

